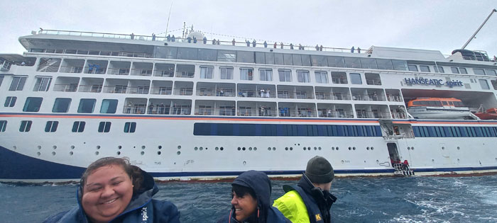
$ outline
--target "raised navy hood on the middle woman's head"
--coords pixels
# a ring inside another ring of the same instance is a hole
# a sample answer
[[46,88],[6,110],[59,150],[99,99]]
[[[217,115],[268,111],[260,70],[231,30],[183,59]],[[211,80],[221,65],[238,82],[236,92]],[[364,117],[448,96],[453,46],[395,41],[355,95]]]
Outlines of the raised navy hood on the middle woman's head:
[[246,171],[241,173],[231,185],[241,185],[247,188],[251,188],[257,197],[257,207],[260,212],[260,216],[266,219],[268,215],[268,209],[270,205],[271,197],[271,181],[269,180],[266,173],[261,171]]

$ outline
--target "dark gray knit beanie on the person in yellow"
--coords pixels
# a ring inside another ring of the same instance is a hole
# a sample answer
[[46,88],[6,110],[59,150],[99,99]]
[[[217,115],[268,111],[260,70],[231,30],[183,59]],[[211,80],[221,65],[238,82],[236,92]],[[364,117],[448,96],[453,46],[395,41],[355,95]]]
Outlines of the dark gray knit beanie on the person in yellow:
[[314,156],[307,162],[305,175],[312,183],[329,183],[335,176],[332,164],[322,156]]

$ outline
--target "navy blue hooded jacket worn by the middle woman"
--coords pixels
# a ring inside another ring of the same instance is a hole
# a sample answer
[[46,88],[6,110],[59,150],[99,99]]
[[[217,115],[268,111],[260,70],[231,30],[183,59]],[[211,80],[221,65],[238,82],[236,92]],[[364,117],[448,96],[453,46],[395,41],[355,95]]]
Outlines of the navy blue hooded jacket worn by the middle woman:
[[[271,197],[271,181],[269,180],[266,173],[261,171],[246,171],[241,173],[234,181],[233,184],[242,185],[247,188],[251,188],[256,193],[257,208],[259,213],[253,213],[250,223],[291,223],[280,210],[275,207],[271,207],[270,197]],[[222,219],[219,219],[218,223],[239,223],[234,216],[234,207],[231,207],[231,211]],[[258,216],[257,216],[258,215]]]

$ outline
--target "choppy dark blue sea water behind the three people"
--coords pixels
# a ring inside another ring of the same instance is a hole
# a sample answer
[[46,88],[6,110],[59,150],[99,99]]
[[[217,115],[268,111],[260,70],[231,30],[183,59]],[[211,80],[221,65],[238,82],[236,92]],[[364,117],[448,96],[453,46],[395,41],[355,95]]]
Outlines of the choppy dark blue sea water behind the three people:
[[[271,200],[283,195],[273,181]],[[216,222],[230,208],[230,183],[161,183],[181,222]],[[0,184],[0,222],[41,222],[76,204],[76,185]],[[333,222],[497,222],[497,176],[336,178]]]

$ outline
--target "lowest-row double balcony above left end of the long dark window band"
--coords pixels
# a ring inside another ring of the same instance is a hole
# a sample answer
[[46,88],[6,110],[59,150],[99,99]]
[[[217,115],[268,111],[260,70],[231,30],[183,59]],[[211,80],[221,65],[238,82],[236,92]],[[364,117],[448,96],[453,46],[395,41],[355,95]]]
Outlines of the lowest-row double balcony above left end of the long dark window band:
[[195,101],[195,115],[236,115],[234,101]]

